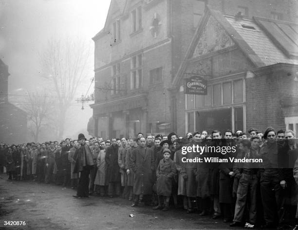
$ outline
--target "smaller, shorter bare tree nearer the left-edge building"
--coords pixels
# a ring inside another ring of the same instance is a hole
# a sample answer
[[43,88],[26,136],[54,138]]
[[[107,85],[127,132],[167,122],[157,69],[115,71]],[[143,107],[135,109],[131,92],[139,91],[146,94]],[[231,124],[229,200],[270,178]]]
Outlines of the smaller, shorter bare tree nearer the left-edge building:
[[28,96],[26,96],[25,100],[26,106],[24,107],[24,110],[29,116],[29,121],[32,122],[30,128],[34,140],[37,142],[40,131],[46,124],[46,118],[50,114],[51,104],[49,96],[45,93],[28,92]]

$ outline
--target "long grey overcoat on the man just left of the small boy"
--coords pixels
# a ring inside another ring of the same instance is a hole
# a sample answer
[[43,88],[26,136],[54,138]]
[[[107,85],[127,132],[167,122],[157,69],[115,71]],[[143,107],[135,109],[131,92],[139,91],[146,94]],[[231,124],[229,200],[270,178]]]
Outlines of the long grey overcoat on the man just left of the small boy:
[[155,169],[153,150],[140,146],[135,148],[130,156],[130,167],[135,173],[133,193],[152,194],[152,173]]

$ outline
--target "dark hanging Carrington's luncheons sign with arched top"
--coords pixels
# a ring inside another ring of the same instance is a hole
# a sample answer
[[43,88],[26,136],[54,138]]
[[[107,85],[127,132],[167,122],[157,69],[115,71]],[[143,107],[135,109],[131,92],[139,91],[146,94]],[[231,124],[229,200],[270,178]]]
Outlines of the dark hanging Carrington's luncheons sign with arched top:
[[196,75],[184,79],[184,94],[207,95],[207,80]]

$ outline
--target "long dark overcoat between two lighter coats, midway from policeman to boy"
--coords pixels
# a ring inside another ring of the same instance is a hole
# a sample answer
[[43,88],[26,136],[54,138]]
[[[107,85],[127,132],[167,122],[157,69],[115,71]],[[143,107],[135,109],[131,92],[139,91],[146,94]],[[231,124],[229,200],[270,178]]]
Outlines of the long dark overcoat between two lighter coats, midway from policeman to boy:
[[121,182],[120,168],[118,165],[118,146],[110,146],[106,150],[107,182]]

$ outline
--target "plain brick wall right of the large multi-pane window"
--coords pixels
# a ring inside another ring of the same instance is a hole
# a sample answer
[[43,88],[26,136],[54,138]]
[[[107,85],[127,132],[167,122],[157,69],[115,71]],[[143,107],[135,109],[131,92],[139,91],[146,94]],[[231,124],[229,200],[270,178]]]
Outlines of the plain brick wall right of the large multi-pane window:
[[297,82],[287,73],[279,71],[246,79],[246,130],[255,127],[264,132],[269,126],[285,129],[284,117],[295,115],[295,109],[283,107],[281,99],[298,96]]

